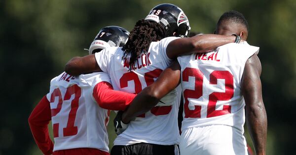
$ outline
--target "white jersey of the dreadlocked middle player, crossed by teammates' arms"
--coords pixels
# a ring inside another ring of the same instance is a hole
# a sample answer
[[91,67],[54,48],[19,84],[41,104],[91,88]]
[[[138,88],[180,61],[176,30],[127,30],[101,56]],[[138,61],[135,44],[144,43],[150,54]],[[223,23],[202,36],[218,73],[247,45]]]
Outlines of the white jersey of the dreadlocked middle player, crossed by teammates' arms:
[[[152,84],[167,68],[172,60],[166,55],[166,47],[178,37],[167,37],[158,42],[151,42],[148,53],[143,53],[129,71],[129,57],[123,59],[121,48],[111,47],[95,54],[100,68],[110,75],[114,90],[128,93],[140,93]],[[179,95],[172,93],[170,106],[156,106],[149,112],[131,121],[128,128],[114,141],[114,145],[130,145],[137,142],[173,145],[179,143],[178,110]],[[125,141],[118,141],[118,139]]]

